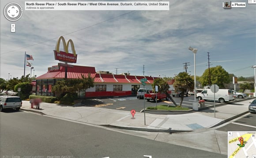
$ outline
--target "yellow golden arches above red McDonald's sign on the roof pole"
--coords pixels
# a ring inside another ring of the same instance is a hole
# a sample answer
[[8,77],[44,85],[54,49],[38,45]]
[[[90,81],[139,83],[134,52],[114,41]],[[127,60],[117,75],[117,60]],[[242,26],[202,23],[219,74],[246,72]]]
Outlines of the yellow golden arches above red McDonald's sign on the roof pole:
[[[63,50],[60,51],[60,40],[62,40],[63,44]],[[72,53],[68,53],[68,46],[71,45]],[[74,43],[71,39],[68,40],[68,43],[66,43],[63,36],[60,36],[57,40],[56,47],[54,52],[55,60],[59,60],[62,62],[70,62],[70,63],[76,63],[77,55],[75,54],[75,47]]]

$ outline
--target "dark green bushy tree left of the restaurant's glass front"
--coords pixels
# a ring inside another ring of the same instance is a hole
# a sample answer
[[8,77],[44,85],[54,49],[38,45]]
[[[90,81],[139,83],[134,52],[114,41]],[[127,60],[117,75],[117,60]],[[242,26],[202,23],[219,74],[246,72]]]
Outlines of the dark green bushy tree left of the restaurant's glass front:
[[29,82],[18,83],[17,85],[15,85],[15,92],[18,92],[18,88],[20,88],[20,98],[28,99],[32,91],[32,84]]

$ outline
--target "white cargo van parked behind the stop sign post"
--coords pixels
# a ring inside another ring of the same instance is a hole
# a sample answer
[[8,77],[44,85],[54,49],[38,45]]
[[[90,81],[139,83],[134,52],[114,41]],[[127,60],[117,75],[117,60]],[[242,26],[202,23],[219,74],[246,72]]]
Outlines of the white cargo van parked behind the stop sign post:
[[[211,92],[211,89],[204,89],[201,93],[196,94],[198,100],[214,100],[214,93]],[[228,102],[234,100],[234,95],[231,89],[219,89],[215,93],[215,100],[220,103]]]

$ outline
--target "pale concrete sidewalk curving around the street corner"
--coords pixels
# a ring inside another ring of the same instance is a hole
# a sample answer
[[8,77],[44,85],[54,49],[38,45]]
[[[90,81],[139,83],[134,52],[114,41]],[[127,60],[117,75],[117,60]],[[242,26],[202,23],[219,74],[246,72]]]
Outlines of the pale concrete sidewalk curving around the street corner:
[[139,111],[132,118],[130,111],[99,107],[61,106],[54,103],[40,103],[40,110],[38,110],[30,108],[29,101],[23,101],[21,109],[120,129],[148,132],[185,132],[211,128],[246,114],[251,101],[252,99],[245,99],[241,102],[218,106],[215,114],[214,108],[176,115],[146,113],[146,125],[144,124],[144,113],[139,113]]

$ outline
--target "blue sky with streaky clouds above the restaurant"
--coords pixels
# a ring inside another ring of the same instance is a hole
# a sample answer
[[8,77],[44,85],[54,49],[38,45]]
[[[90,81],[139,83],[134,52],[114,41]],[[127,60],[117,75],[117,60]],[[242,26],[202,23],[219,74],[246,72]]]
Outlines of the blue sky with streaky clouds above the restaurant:
[[[78,0],[77,0],[78,1]],[[0,1],[0,11],[9,0]],[[25,1],[15,0],[24,9]],[[58,37],[72,39],[78,54],[74,65],[96,71],[173,77],[184,71],[196,75],[221,65],[236,76],[254,76],[256,65],[256,4],[223,9],[221,0],[171,0],[169,11],[26,11],[16,22],[0,18],[0,78],[21,77],[25,51],[33,55],[34,74],[40,76],[58,63]],[[127,14],[126,14],[127,13]],[[117,17],[117,18],[116,18]],[[11,23],[16,33],[11,33]],[[62,47],[61,47],[62,48]],[[71,51],[71,50],[70,50]],[[30,67],[26,66],[26,74]],[[33,75],[33,71],[32,71]]]

